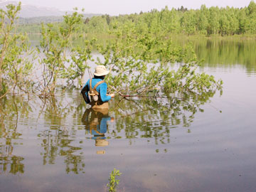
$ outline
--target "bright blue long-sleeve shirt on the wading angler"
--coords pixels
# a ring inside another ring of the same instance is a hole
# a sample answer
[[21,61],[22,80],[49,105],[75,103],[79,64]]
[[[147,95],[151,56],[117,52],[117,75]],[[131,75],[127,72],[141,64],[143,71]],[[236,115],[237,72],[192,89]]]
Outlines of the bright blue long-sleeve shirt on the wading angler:
[[[92,78],[92,89],[93,87],[95,87],[95,85],[97,84],[97,82],[100,82],[102,79],[96,79],[96,78]],[[85,87],[88,87],[87,91],[85,91]],[[88,95],[88,91],[90,90],[90,80],[87,80],[85,86],[82,88],[82,94],[85,93],[85,95],[83,95],[83,97],[87,97],[87,102],[85,100],[85,102],[90,103],[90,97]],[[100,94],[100,99],[102,100],[102,102],[107,102],[111,99],[110,95],[107,95],[107,83],[106,82],[102,82],[100,85],[98,85],[96,87],[96,91],[99,92]]]

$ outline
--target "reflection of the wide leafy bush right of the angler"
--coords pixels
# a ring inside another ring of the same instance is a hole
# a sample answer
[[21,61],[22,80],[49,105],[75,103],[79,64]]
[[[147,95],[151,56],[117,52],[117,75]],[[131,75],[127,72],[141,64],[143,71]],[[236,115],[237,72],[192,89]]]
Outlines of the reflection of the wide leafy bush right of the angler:
[[[170,142],[170,129],[178,126],[190,127],[196,112],[215,92],[198,95],[171,95],[161,97],[127,97],[114,102],[112,112],[116,117],[116,132],[112,137],[127,139],[154,138],[155,144]],[[189,131],[188,131],[189,132]]]

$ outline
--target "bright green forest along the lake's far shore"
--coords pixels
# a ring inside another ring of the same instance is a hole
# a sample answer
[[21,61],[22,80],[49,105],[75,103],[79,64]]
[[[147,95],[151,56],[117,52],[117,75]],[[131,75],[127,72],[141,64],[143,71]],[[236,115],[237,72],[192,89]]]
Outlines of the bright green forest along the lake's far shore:
[[[40,33],[41,19],[38,23],[20,23],[18,32]],[[23,24],[22,24],[23,23]],[[58,23],[58,21],[56,21]],[[256,4],[251,1],[244,8],[212,6],[201,9],[169,9],[167,6],[158,11],[153,9],[139,14],[119,16],[93,16],[84,18],[81,33],[105,34],[117,28],[134,28],[136,33],[183,34],[205,36],[233,36],[235,34],[256,34]]]

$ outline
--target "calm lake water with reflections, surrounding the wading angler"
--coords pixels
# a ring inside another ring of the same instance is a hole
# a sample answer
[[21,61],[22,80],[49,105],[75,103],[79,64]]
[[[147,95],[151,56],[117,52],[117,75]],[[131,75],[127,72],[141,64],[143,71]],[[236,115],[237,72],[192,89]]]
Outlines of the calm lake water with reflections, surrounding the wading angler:
[[255,191],[255,41],[195,49],[199,70],[224,85],[194,113],[178,100],[121,97],[95,112],[61,89],[46,102],[1,100],[0,191],[107,191],[114,168],[117,191]]

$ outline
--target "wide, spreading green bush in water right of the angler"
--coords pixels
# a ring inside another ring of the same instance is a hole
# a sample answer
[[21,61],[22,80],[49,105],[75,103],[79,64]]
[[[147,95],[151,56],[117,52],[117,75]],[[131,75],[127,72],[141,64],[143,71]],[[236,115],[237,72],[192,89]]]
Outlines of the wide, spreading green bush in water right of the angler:
[[[127,27],[114,35],[113,43],[98,46],[105,59],[97,58],[97,64],[110,68],[106,81],[122,95],[200,94],[221,88],[212,76],[196,73],[200,63],[191,45],[181,48],[169,39]],[[181,64],[171,70],[169,63]]]

